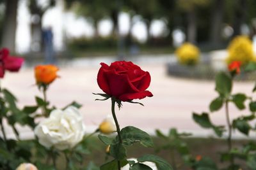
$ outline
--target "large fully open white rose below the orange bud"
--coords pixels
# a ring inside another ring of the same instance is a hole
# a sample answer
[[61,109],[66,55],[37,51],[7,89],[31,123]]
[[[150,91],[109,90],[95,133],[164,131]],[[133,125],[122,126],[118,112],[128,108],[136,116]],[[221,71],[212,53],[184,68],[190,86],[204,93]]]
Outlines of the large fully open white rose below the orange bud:
[[45,118],[35,127],[35,135],[39,143],[46,148],[65,150],[73,148],[84,136],[83,117],[74,106],[65,110],[52,110],[49,118]]

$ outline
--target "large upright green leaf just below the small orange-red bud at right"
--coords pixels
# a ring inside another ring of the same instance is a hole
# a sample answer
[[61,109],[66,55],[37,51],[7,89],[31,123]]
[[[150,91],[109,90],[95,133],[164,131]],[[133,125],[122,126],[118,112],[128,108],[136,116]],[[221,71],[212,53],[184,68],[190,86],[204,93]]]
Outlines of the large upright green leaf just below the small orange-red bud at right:
[[215,90],[220,94],[220,96],[227,98],[232,90],[232,80],[230,76],[224,72],[221,72],[217,74],[215,81]]

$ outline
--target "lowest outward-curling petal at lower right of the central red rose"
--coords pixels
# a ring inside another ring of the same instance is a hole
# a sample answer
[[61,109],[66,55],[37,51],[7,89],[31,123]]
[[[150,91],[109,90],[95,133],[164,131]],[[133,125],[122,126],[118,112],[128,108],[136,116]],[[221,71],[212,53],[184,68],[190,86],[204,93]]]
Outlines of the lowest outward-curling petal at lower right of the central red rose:
[[145,97],[152,97],[153,94],[148,91],[141,91],[141,92],[136,92],[136,93],[128,93],[128,94],[123,94],[122,96],[119,96],[118,98],[121,101],[132,101],[133,99],[143,99]]

